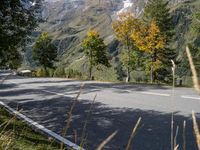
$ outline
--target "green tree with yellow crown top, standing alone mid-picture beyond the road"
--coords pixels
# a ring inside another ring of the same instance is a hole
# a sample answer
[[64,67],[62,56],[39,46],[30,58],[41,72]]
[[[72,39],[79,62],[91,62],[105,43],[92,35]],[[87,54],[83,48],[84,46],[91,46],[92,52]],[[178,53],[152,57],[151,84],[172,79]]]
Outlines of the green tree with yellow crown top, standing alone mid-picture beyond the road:
[[106,54],[106,45],[100,35],[95,30],[90,30],[87,37],[83,41],[82,47],[85,55],[89,60],[89,78],[92,79],[93,67],[97,65],[104,65],[109,67],[108,56]]

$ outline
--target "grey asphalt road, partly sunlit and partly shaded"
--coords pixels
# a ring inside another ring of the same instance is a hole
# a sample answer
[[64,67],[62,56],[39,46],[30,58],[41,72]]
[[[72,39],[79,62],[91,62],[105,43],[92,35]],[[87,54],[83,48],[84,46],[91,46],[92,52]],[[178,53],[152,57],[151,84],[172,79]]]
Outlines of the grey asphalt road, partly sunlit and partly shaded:
[[[0,71],[0,78],[7,74],[9,72]],[[61,134],[74,97],[83,83],[84,87],[74,108],[72,124],[66,136],[72,142],[80,143],[87,120],[86,149],[95,149],[108,135],[119,130],[106,149],[123,150],[137,119],[142,117],[132,149],[169,150],[171,112],[174,111],[175,127],[179,126],[179,150],[183,149],[184,120],[187,122],[187,150],[197,149],[191,111],[194,110],[197,116],[200,113],[200,97],[190,88],[175,88],[173,94],[170,87],[144,84],[9,76],[0,85],[0,101],[20,109],[27,117]],[[96,94],[91,115],[86,119]]]

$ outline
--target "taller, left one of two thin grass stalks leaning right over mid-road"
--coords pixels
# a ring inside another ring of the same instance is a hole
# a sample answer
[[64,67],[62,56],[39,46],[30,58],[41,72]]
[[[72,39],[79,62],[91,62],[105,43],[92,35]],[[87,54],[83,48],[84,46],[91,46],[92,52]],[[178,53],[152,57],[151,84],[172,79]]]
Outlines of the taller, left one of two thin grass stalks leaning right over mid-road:
[[[76,95],[76,97],[75,97],[75,99],[74,99],[74,101],[72,103],[72,106],[70,107],[70,111],[68,113],[67,123],[66,123],[66,126],[63,129],[63,134],[62,134],[63,137],[65,137],[67,135],[67,131],[68,131],[68,129],[69,129],[70,125],[71,125],[71,122],[72,122],[73,110],[74,110],[74,107],[76,105],[76,102],[78,101],[78,98],[79,98],[79,96],[81,94],[81,91],[82,91],[83,87],[84,87],[84,84],[81,85],[80,90],[79,90],[78,94]],[[63,150],[63,146],[64,146],[64,143],[62,142],[60,144],[60,149],[61,150]]]

